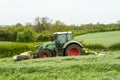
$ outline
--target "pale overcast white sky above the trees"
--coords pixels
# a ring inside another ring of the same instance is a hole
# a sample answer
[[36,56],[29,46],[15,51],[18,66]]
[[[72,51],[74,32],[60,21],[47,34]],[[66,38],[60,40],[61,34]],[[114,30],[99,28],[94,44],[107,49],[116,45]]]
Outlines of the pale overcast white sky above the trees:
[[0,0],[0,25],[33,23],[37,16],[66,24],[114,23],[120,0]]

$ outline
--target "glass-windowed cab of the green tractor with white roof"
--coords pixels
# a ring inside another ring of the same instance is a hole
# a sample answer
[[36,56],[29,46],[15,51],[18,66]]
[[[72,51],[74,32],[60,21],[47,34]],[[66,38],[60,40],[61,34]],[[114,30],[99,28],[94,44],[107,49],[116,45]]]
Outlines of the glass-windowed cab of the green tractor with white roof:
[[54,33],[54,41],[57,48],[62,48],[63,45],[70,40],[72,40],[72,32]]

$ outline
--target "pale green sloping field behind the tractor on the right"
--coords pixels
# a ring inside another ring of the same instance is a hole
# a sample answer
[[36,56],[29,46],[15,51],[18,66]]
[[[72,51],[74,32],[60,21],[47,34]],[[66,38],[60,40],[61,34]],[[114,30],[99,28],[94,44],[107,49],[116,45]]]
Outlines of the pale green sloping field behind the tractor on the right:
[[120,31],[84,34],[76,36],[74,39],[77,41],[83,41],[84,43],[97,43],[109,46],[114,43],[120,43]]

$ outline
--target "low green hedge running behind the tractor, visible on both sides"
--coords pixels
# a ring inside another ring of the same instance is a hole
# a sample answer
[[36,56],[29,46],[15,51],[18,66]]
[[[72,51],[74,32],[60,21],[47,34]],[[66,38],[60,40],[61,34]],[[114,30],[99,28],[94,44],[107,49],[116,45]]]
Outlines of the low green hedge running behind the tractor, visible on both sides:
[[[9,44],[1,44],[0,45],[0,58],[4,57],[12,57],[14,55],[18,55],[25,51],[35,51],[35,45],[41,44],[38,43],[9,43]],[[88,48],[90,50],[120,50],[120,43],[115,43],[108,47],[103,46],[101,44],[84,44],[84,48]]]

